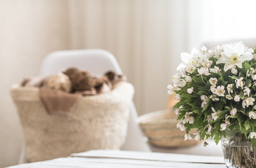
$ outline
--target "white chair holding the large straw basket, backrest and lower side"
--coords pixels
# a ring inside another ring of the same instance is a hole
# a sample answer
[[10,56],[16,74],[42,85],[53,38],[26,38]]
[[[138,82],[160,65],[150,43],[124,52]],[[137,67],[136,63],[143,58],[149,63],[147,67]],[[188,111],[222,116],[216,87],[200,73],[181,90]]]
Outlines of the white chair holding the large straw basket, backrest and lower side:
[[[43,60],[39,75],[49,76],[72,66],[100,76],[109,70],[119,74],[122,73],[118,62],[110,52],[100,49],[87,49],[62,50],[50,53]],[[126,142],[121,149],[127,151],[150,151],[137,123],[137,111],[133,103],[130,112]]]

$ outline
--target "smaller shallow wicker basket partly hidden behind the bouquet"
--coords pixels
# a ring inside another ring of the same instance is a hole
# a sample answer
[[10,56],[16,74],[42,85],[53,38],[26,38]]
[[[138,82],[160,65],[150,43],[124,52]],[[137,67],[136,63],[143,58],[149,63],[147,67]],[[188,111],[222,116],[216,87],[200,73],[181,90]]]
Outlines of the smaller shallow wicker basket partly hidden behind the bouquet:
[[[196,140],[184,141],[185,132],[176,127],[177,115],[172,111],[155,111],[140,116],[140,127],[149,143],[154,146],[175,148],[179,146],[192,146],[198,144]],[[195,133],[191,130],[189,134]],[[191,135],[192,136],[192,135]]]

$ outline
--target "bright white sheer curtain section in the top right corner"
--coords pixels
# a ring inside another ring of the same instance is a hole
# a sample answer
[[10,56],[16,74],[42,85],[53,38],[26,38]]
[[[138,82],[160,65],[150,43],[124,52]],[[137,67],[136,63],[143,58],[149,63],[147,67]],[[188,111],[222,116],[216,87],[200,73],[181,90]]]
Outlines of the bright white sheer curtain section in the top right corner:
[[256,38],[256,1],[195,0],[189,6],[190,49],[208,41]]

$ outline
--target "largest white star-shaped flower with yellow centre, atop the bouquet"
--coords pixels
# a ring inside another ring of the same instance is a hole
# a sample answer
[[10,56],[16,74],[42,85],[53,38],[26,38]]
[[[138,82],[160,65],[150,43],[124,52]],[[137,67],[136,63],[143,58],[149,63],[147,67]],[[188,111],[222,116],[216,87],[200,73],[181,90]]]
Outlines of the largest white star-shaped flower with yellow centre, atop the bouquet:
[[234,46],[224,44],[222,57],[217,60],[216,64],[224,63],[224,71],[227,71],[234,65],[242,68],[242,63],[245,61],[250,61],[252,58],[253,55],[251,52],[245,52],[242,42],[238,42]]

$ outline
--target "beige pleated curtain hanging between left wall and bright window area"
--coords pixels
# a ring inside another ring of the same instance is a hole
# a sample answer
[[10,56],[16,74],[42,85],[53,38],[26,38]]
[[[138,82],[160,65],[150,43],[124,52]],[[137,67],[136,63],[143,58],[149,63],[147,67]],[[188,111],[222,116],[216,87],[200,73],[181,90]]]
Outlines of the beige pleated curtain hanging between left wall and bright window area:
[[109,50],[135,85],[138,113],[164,109],[187,47],[186,8],[186,1],[69,1],[71,48]]

